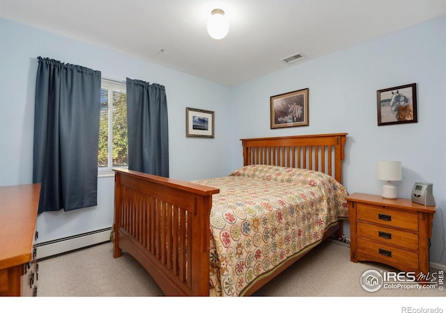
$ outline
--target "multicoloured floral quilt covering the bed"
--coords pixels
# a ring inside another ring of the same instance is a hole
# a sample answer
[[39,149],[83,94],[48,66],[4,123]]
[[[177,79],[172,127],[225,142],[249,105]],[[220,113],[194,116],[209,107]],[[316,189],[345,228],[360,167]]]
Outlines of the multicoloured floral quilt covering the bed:
[[348,217],[346,189],[322,172],[254,165],[194,182],[220,188],[210,211],[210,296],[243,295]]

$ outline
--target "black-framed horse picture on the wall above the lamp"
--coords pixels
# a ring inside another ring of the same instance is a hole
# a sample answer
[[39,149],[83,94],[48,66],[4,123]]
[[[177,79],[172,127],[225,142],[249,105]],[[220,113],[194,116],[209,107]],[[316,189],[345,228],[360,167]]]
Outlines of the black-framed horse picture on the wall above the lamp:
[[417,84],[376,91],[378,126],[417,122]]

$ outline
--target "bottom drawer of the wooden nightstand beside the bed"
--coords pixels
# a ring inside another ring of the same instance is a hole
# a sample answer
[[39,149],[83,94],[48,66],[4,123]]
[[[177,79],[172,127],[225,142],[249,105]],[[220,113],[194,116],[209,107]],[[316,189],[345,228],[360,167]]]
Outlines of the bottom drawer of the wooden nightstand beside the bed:
[[397,268],[419,268],[417,253],[362,238],[357,239],[357,254],[362,254],[361,258],[370,256],[371,261],[378,260]]

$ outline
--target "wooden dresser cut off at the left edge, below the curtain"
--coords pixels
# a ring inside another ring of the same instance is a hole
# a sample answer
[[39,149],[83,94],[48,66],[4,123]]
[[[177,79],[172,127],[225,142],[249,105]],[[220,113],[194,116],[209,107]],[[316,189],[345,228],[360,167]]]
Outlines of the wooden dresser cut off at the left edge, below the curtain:
[[36,296],[40,184],[0,187],[0,296]]

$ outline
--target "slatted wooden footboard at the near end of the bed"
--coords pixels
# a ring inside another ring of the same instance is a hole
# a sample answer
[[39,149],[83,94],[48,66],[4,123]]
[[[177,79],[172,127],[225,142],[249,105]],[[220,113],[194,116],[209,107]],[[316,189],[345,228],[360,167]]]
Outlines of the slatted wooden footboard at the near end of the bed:
[[219,190],[115,171],[113,256],[128,252],[168,296],[208,296],[209,214]]

